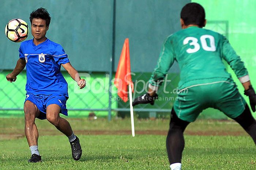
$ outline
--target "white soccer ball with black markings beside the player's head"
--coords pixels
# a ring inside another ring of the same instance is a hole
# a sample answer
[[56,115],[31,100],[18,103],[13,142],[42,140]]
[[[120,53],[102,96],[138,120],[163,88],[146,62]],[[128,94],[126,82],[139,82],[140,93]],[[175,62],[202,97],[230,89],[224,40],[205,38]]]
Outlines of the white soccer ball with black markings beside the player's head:
[[13,42],[22,42],[29,34],[29,26],[22,19],[12,19],[5,26],[5,35]]

